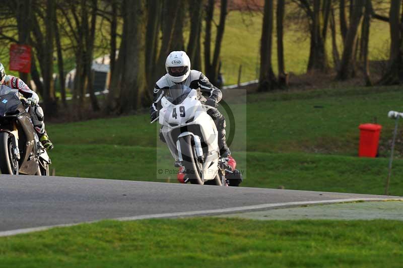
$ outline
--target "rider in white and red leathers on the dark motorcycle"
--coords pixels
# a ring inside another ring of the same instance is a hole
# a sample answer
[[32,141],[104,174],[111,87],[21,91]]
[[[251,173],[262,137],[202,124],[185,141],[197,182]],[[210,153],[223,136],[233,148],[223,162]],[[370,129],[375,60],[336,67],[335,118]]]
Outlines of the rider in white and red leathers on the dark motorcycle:
[[6,75],[6,71],[2,63],[0,63],[0,85],[8,86],[12,89],[18,89],[18,91],[27,99],[27,104],[30,106],[29,113],[31,115],[35,131],[39,136],[39,141],[46,150],[53,149],[53,144],[49,140],[45,130],[45,123],[43,122],[44,114],[42,108],[38,104],[38,94],[31,90],[21,79],[15,76]]

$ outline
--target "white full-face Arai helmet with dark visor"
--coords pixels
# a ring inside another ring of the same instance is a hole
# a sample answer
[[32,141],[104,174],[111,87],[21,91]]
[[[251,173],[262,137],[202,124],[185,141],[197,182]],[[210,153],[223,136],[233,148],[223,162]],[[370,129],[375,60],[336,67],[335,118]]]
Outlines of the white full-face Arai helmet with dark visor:
[[172,51],[165,61],[165,69],[172,82],[182,83],[190,74],[190,58],[185,51]]

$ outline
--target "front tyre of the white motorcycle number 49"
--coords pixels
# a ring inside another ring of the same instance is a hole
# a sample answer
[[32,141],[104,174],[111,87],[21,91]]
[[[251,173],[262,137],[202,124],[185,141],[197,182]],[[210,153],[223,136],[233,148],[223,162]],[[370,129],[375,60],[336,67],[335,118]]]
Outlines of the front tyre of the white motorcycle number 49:
[[197,157],[191,141],[191,136],[179,138],[180,150],[183,158],[182,164],[191,184],[204,184],[203,178],[201,177],[200,168],[195,162],[197,161]]

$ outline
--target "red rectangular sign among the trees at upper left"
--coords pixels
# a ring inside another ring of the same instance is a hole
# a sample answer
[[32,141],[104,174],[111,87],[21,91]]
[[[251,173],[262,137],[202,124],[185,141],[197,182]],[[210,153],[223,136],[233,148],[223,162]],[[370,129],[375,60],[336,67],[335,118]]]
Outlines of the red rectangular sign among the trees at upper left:
[[21,73],[31,71],[31,46],[18,44],[10,46],[10,70]]

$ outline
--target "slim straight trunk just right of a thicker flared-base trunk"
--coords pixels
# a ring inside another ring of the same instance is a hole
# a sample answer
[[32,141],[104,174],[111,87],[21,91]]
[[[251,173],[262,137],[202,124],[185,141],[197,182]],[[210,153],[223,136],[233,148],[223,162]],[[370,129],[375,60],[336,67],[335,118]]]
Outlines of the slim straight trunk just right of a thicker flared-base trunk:
[[284,65],[284,45],[283,45],[283,24],[284,24],[285,1],[277,0],[277,62],[279,68],[279,86],[285,87],[288,84],[287,74]]

